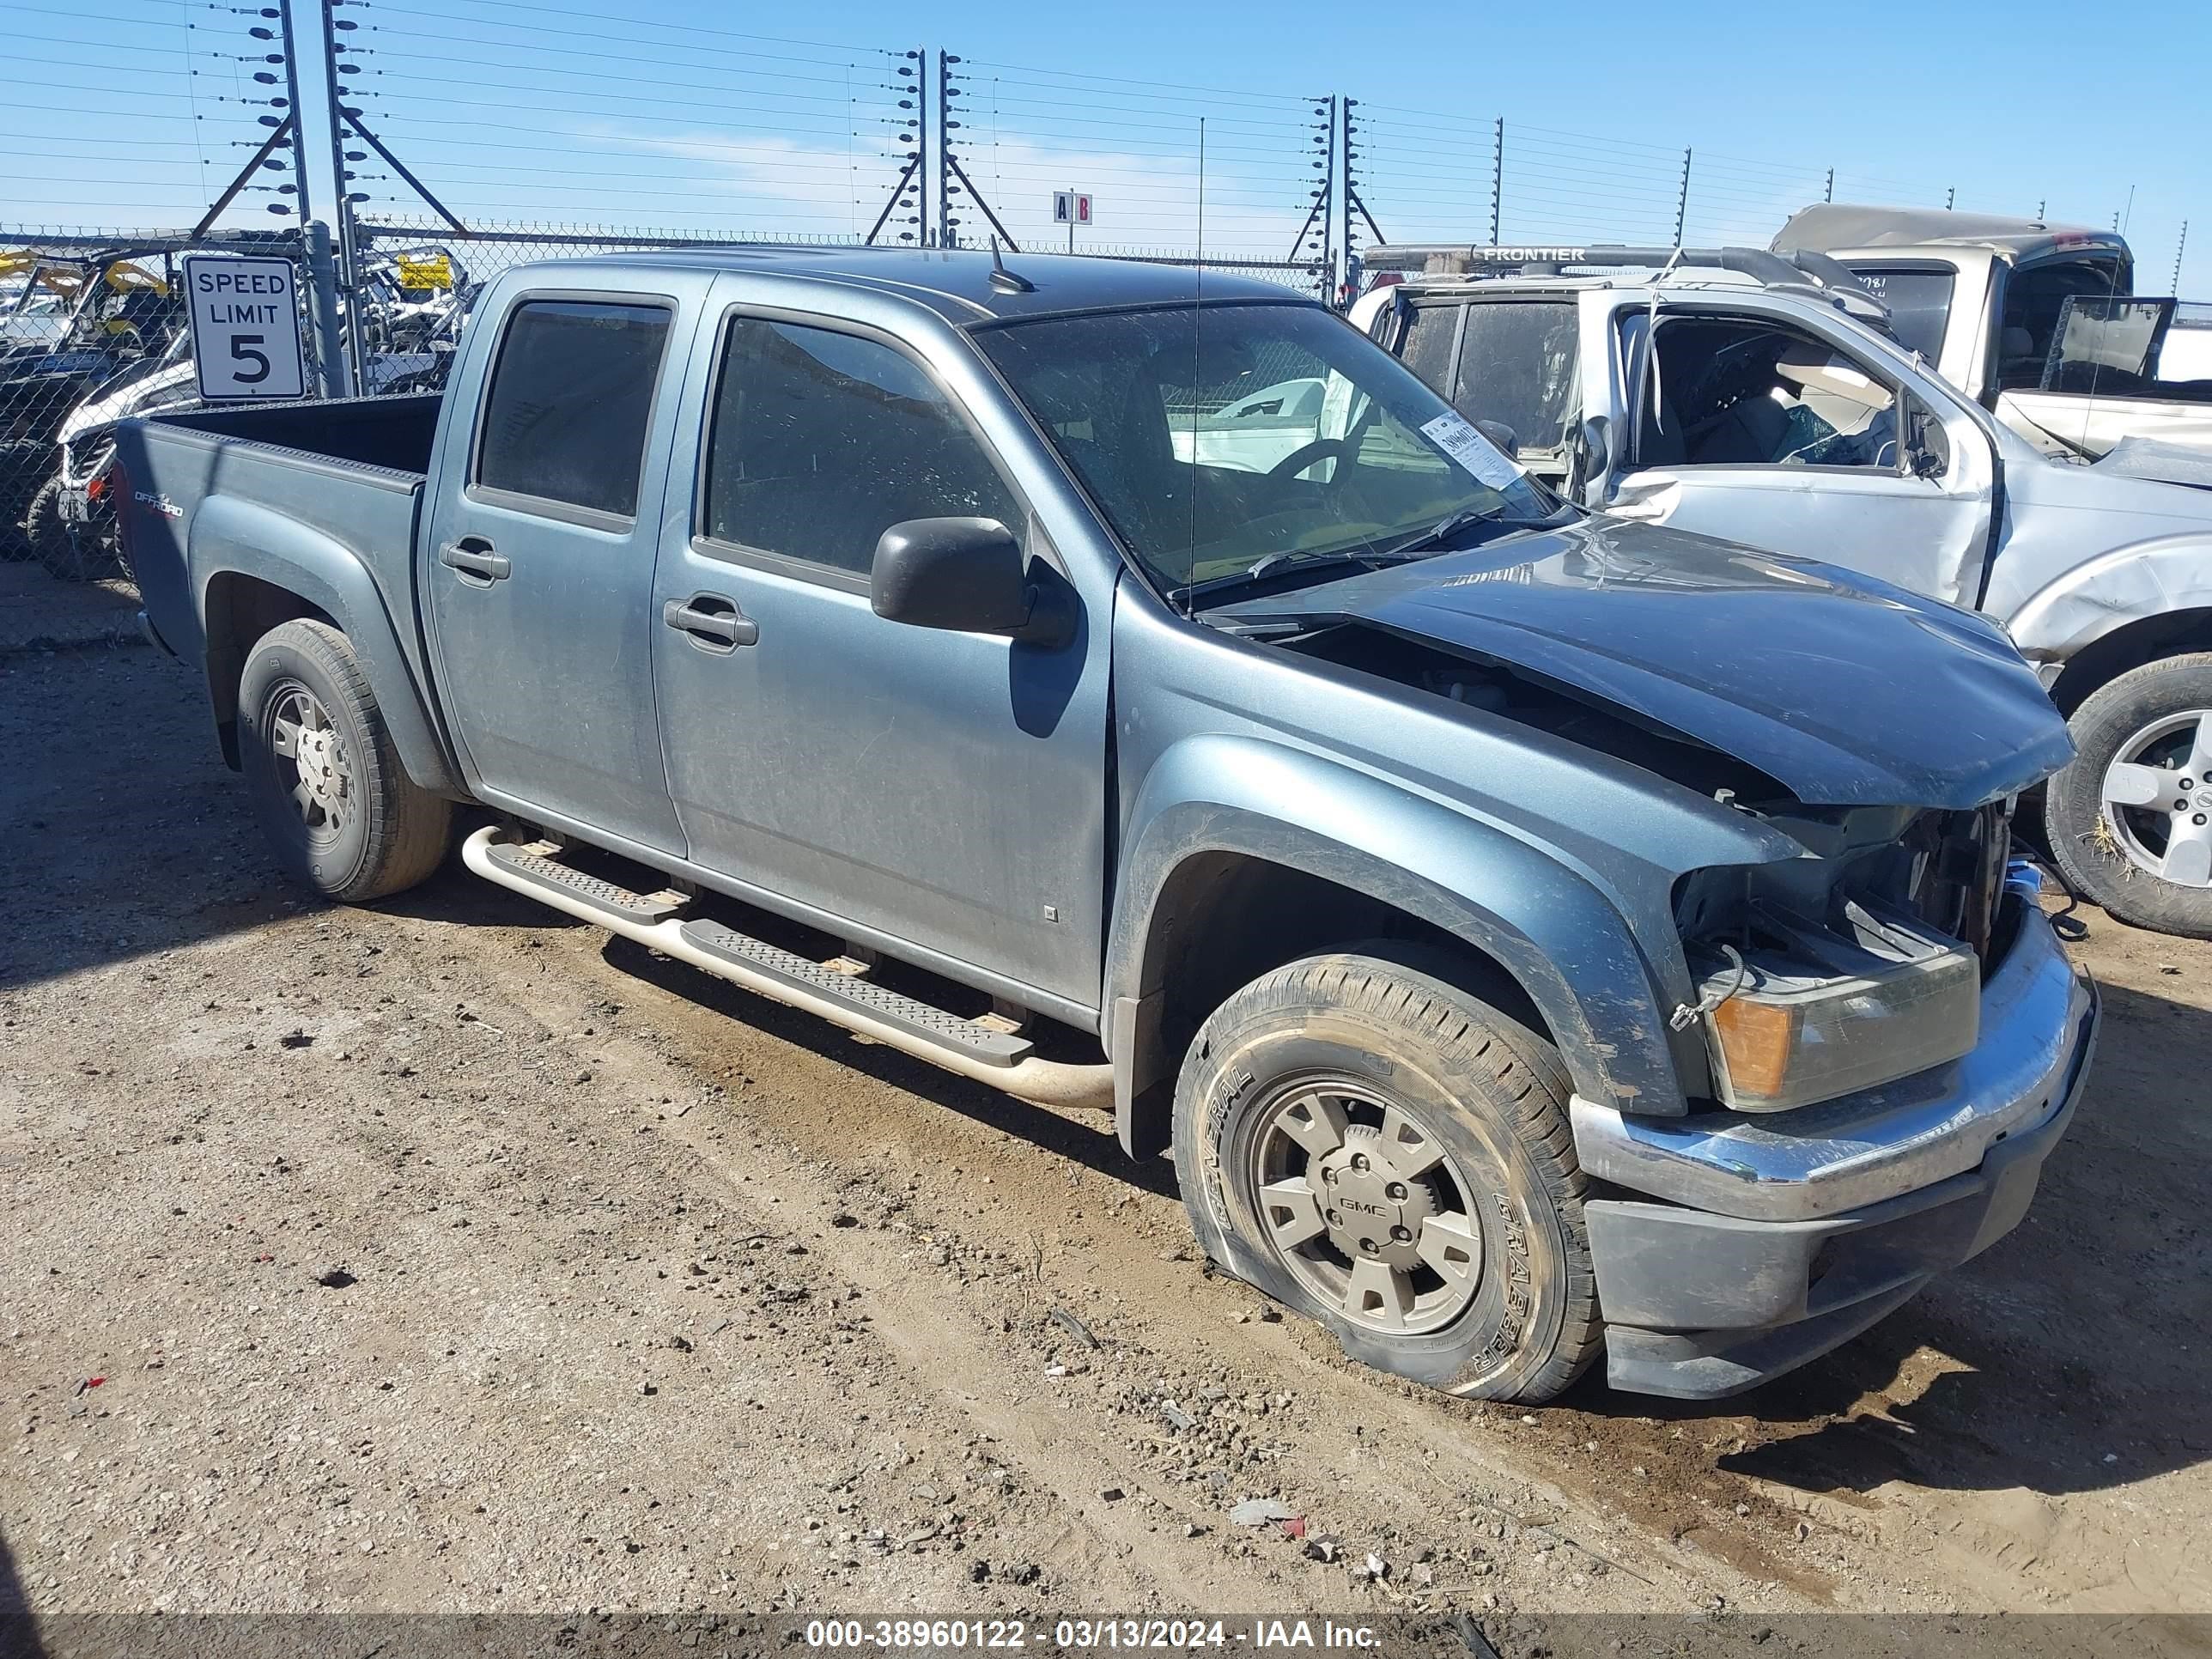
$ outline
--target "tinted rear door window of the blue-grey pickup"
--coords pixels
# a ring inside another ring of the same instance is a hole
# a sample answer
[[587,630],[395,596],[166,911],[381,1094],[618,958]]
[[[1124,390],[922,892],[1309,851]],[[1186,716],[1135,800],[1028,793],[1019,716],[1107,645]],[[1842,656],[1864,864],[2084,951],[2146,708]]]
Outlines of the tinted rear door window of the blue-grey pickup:
[[613,301],[515,305],[484,398],[478,489],[635,518],[668,316]]

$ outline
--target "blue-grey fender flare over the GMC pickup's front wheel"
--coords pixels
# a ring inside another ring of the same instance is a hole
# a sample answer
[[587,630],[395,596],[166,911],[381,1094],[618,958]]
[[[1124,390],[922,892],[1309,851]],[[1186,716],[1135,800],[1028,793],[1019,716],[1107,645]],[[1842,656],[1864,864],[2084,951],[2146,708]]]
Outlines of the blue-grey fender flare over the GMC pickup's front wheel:
[[[1214,852],[1321,876],[1467,940],[1535,1002],[1575,1093],[1639,1113],[1686,1108],[1652,973],[1599,887],[1440,801],[1256,739],[1186,739],[1146,776],[1106,940],[1108,1006],[1159,991],[1161,894],[1183,860]],[[1115,1068],[1128,1073],[1121,1024]],[[1137,1091],[1117,1093],[1126,1119]]]

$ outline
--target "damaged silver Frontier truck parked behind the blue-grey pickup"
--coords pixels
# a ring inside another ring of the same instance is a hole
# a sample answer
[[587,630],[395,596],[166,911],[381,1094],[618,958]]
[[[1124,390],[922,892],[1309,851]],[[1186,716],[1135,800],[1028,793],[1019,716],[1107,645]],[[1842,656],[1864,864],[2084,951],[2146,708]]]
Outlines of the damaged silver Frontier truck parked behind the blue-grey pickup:
[[2212,938],[2212,491],[2046,456],[1820,254],[1409,246],[1367,268],[1402,281],[1352,321],[1584,507],[2000,622],[2073,726],[2044,801],[2068,883]]

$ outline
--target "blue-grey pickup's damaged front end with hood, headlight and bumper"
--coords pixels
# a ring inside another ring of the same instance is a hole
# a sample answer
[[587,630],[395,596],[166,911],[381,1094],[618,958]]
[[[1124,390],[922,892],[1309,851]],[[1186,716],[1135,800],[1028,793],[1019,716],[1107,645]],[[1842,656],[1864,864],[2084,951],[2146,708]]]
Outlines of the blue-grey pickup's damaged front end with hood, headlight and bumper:
[[1661,1015],[1688,1110],[1571,1108],[1601,1183],[1584,1212],[1617,1387],[1712,1398],[1778,1376],[2026,1212],[2097,998],[2011,863],[2013,799],[2073,748],[1984,622],[1626,524],[1228,622],[1774,834],[1763,863],[1672,865],[1641,922],[1655,982],[1681,989]]

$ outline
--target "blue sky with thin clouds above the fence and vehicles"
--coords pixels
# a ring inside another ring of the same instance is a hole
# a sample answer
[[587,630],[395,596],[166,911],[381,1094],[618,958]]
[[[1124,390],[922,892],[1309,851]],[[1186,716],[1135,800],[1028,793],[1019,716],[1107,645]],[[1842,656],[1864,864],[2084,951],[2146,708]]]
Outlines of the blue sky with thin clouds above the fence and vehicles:
[[[250,153],[268,95],[259,7],[7,0],[0,221],[192,217]],[[314,33],[316,13],[301,4]],[[1495,117],[1506,239],[1756,239],[1838,199],[2115,212],[2163,288],[2212,296],[2212,9],[2051,0],[1905,7],[949,4],[639,0],[347,4],[365,119],[465,219],[865,232],[898,173],[898,60],[964,58],[958,153],[1024,241],[1051,190],[1095,190],[1084,241],[1287,252],[1307,206],[1310,95],[1360,100],[1363,197],[1398,239],[1484,237]],[[186,27],[190,24],[190,27]],[[314,95],[307,49],[310,115]],[[369,212],[416,212],[358,164]],[[272,181],[281,175],[263,175]],[[327,204],[327,181],[310,175]],[[2130,204],[2132,188],[2132,204]],[[274,195],[237,223],[272,223]],[[969,230],[982,219],[967,210]],[[896,221],[894,221],[896,234]],[[1365,234],[1365,228],[1363,228]],[[1082,246],[1082,243],[1079,243]]]

